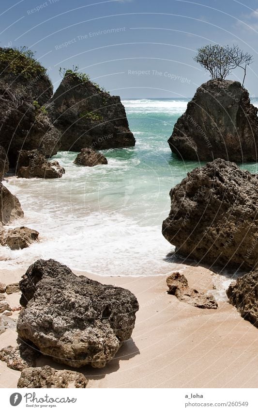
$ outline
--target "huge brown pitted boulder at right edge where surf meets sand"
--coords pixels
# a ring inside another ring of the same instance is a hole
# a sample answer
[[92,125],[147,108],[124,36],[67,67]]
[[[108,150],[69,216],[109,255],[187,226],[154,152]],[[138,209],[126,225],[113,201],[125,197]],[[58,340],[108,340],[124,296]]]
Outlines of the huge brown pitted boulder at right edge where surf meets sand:
[[188,173],[170,198],[162,233],[178,254],[236,268],[257,265],[256,175],[216,159]]

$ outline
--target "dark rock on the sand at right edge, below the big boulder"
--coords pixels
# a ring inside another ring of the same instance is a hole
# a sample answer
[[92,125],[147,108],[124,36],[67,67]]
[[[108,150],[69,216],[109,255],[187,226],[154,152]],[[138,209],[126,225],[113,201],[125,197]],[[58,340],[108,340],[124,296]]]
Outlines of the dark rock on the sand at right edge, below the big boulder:
[[232,282],[226,293],[241,316],[258,328],[258,270]]

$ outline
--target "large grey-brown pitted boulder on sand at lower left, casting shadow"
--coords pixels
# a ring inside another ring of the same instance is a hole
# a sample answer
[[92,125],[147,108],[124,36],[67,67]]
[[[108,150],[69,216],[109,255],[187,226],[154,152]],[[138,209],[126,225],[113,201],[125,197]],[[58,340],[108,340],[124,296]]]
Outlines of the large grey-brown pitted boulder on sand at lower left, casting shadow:
[[52,259],[32,264],[20,289],[19,337],[56,362],[104,367],[134,329],[138,302],[130,291],[76,277]]

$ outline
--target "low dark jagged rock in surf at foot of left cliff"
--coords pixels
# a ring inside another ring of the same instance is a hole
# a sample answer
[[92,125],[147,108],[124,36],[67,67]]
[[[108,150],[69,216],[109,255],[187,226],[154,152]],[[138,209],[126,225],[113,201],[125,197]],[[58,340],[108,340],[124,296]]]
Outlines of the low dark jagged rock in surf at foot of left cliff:
[[47,162],[45,156],[38,150],[20,150],[17,163],[19,178],[61,178],[64,168],[57,161]]

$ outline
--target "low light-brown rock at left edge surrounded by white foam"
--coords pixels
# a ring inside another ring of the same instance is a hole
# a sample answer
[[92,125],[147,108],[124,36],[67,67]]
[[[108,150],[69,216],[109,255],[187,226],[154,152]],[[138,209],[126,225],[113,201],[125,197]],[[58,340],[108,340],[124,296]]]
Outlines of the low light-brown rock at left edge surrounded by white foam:
[[38,239],[39,232],[21,226],[20,228],[0,231],[0,244],[12,250],[29,247]]

